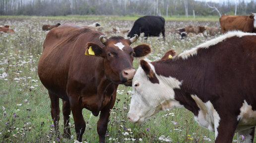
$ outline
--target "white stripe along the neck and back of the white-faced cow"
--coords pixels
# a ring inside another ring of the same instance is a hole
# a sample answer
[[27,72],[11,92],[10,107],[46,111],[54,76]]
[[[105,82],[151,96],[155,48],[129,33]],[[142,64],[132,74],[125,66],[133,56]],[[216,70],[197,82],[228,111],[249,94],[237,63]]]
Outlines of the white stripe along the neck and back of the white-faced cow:
[[181,53],[180,55],[178,55],[178,57],[181,57],[182,59],[188,59],[190,56],[196,55],[197,54],[197,50],[200,48],[209,48],[210,46],[216,45],[220,42],[222,42],[223,40],[225,40],[226,38],[230,38],[232,36],[238,36],[238,37],[242,37],[242,36],[256,36],[255,33],[244,33],[241,31],[230,31],[222,36],[219,36],[217,38],[211,39],[205,43],[202,43],[198,46],[196,46],[195,48],[192,48],[191,50],[186,50],[183,53]]

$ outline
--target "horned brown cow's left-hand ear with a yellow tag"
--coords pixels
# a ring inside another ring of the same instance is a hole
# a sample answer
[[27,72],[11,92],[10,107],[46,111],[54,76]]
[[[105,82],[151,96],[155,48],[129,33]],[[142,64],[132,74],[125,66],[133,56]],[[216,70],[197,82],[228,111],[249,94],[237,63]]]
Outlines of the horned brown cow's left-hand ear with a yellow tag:
[[85,48],[85,55],[102,56],[102,48],[94,42],[88,42]]

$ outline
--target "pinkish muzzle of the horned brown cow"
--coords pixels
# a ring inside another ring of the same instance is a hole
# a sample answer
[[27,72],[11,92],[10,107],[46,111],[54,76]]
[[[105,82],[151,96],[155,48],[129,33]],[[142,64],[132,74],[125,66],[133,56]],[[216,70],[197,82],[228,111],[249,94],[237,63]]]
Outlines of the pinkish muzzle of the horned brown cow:
[[121,73],[121,81],[126,86],[131,86],[132,78],[135,74],[135,70],[133,68],[128,68],[122,71]]

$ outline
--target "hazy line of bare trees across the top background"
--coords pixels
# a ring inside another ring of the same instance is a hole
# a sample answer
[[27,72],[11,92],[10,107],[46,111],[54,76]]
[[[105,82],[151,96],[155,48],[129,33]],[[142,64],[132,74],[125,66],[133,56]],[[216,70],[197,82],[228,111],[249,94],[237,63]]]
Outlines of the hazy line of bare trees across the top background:
[[[249,15],[256,0],[0,0],[0,15]],[[217,9],[217,10],[216,10]],[[218,12],[219,11],[219,12]]]

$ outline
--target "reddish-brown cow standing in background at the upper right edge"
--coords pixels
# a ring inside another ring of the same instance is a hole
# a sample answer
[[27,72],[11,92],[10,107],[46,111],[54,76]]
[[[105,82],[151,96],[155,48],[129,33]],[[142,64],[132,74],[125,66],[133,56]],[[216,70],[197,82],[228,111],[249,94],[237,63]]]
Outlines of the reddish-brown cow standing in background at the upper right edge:
[[245,15],[222,15],[220,17],[221,33],[232,30],[243,32],[256,32],[256,13],[250,16]]

